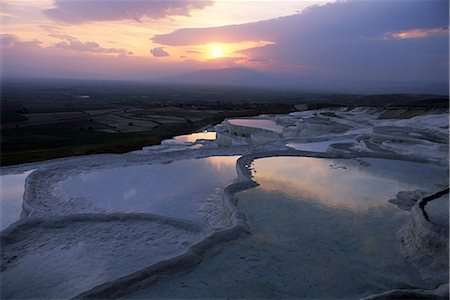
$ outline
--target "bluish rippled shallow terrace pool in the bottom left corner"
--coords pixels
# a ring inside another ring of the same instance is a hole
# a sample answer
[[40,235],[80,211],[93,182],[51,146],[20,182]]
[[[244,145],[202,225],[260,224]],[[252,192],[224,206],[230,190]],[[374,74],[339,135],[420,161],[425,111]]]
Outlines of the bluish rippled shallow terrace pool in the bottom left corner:
[[16,230],[2,244],[2,299],[72,299],[183,253],[202,232],[139,218]]

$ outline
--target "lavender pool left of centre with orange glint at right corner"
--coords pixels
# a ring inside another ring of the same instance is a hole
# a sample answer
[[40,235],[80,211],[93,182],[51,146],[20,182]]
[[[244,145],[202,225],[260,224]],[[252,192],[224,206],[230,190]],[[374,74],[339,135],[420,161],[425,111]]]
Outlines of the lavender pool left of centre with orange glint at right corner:
[[201,203],[236,177],[237,159],[215,156],[95,170],[69,177],[57,190],[87,198],[89,211],[148,212],[198,219]]

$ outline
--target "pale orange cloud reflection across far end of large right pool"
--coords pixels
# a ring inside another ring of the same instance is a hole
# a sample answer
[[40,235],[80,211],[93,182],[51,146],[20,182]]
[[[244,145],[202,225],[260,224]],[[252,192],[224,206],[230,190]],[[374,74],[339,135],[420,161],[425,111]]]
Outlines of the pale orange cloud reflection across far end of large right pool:
[[443,168],[426,164],[364,159],[271,157],[253,163],[255,180],[264,190],[277,191],[331,207],[363,210],[389,205],[401,190],[433,188],[446,180]]

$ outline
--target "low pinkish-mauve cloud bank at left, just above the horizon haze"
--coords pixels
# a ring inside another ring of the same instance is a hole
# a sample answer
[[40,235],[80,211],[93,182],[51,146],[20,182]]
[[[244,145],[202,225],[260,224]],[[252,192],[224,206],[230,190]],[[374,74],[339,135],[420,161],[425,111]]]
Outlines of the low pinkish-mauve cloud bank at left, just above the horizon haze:
[[82,44],[81,47],[88,50],[68,51],[64,47],[46,47],[40,41],[26,41],[14,35],[2,34],[1,76],[142,80],[206,67],[196,62],[180,63],[137,55],[100,55],[99,52],[103,50],[98,50],[95,44]]

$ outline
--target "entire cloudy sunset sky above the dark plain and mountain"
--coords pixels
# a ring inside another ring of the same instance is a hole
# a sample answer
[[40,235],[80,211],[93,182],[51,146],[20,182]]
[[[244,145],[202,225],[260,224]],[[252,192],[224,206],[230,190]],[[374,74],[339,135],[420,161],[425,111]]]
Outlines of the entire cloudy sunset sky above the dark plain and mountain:
[[446,0],[3,0],[0,17],[4,77],[448,82]]

